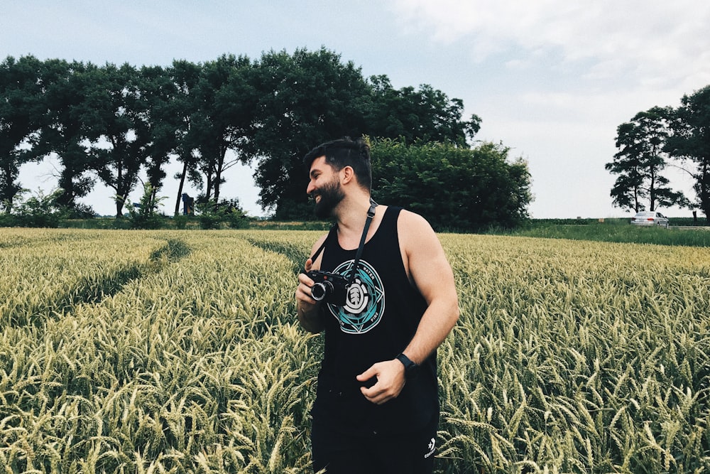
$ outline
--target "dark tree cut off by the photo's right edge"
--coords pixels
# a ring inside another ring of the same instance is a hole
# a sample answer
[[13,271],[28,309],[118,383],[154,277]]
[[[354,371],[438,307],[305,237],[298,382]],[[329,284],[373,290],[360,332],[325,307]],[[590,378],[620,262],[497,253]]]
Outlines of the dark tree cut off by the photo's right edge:
[[696,204],[710,223],[710,85],[683,96],[671,128],[665,150],[694,166],[687,171],[695,179]]

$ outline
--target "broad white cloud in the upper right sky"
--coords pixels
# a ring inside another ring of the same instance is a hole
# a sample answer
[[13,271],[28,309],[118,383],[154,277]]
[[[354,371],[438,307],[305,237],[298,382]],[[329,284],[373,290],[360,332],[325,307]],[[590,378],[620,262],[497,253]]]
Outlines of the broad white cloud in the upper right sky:
[[[586,77],[630,70],[640,82],[662,75],[710,80],[710,2],[691,0],[393,0],[405,28],[450,45],[469,43],[476,60],[522,49],[591,60]],[[523,58],[515,58],[523,60]],[[519,63],[513,63],[519,64]]]

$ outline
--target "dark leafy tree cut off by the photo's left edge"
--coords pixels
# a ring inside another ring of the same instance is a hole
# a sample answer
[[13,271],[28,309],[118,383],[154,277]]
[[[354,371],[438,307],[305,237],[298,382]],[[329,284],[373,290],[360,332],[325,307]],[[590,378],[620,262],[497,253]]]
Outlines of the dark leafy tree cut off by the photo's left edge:
[[0,207],[10,212],[22,190],[20,166],[36,159],[28,141],[40,128],[42,63],[34,56],[8,56],[0,63]]

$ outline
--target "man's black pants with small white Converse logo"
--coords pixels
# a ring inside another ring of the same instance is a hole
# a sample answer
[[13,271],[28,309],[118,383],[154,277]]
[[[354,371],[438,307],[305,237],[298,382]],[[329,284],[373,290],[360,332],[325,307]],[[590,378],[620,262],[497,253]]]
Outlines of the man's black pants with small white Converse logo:
[[313,470],[327,474],[430,474],[434,470],[438,417],[424,429],[398,435],[353,435],[313,420]]

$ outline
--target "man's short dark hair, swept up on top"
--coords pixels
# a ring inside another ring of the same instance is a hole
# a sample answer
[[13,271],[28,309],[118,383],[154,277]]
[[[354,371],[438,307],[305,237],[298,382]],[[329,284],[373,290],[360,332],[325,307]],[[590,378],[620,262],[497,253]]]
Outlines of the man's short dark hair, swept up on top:
[[325,156],[325,162],[335,171],[346,166],[353,168],[357,182],[362,188],[372,188],[372,165],[370,163],[370,146],[364,139],[351,140],[348,137],[327,141],[316,146],[303,157],[303,164],[310,171],[310,166],[316,158]]

